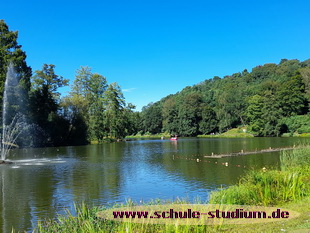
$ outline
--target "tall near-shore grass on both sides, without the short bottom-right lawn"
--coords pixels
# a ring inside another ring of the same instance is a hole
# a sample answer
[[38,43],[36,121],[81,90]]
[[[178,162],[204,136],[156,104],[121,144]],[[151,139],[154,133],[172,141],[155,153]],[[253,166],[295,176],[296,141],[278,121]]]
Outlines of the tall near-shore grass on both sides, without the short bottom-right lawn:
[[[215,191],[211,194],[210,203],[241,204],[241,205],[277,205],[283,202],[295,201],[310,196],[310,146],[281,154],[281,170],[251,171],[243,177],[238,185]],[[169,203],[169,202],[168,202]],[[178,199],[175,204],[188,203]],[[156,199],[147,205],[167,204]],[[127,200],[124,205],[114,205],[112,208],[136,205]],[[57,219],[44,220],[38,223],[36,233],[52,232],[218,232],[230,228],[223,225],[169,225],[169,224],[139,224],[116,222],[97,217],[97,213],[107,207],[88,207],[85,204],[76,206],[76,216],[69,211],[66,216]],[[280,226],[281,229],[283,226]],[[240,228],[240,227],[239,227]],[[233,228],[237,229],[237,228]],[[268,231],[272,228],[268,228]]]

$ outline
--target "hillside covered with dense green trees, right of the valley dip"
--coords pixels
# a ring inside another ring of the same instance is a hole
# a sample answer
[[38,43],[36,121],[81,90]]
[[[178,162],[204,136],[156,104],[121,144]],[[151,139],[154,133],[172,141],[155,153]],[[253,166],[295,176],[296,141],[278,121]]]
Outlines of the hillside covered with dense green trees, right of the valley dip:
[[256,136],[310,132],[310,59],[282,59],[215,76],[144,107],[140,133],[216,134],[248,126]]

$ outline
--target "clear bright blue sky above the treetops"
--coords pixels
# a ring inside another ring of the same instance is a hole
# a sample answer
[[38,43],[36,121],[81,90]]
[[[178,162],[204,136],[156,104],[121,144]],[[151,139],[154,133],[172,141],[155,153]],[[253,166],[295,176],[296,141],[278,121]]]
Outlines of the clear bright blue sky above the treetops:
[[[310,58],[310,1],[2,1],[34,70],[80,66],[117,82],[140,110],[217,75]],[[66,93],[69,89],[62,90]]]

